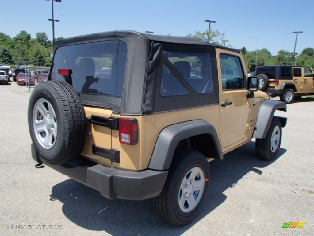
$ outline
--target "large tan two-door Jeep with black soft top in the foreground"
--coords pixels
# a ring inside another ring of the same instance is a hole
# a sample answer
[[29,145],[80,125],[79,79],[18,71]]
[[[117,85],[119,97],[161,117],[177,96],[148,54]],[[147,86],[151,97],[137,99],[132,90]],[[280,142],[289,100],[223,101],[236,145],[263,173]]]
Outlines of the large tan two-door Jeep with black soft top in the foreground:
[[[102,68],[111,68],[104,73]],[[258,91],[237,50],[114,31],[56,42],[28,110],[32,156],[108,199],[154,198],[172,225],[201,211],[208,160],[256,138],[278,153],[286,104]]]

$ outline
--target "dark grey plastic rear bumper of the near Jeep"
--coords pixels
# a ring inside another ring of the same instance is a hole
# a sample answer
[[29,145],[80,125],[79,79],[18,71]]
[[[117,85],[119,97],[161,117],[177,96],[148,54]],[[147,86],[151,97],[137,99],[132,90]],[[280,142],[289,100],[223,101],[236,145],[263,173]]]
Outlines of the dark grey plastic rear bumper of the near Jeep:
[[52,169],[100,192],[108,199],[144,200],[158,196],[168,175],[168,171],[145,170],[141,172],[123,171],[95,163],[93,166],[79,165],[68,168],[50,165],[42,161],[31,144],[32,157]]

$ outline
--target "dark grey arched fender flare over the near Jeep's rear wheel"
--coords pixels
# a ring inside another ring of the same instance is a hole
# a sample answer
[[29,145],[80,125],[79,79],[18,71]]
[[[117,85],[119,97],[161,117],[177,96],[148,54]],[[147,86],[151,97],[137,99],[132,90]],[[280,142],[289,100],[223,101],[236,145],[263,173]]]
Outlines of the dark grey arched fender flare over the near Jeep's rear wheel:
[[160,171],[169,169],[177,144],[182,139],[199,134],[211,136],[218,154],[217,158],[222,160],[222,149],[215,127],[203,120],[186,121],[168,126],[160,132],[148,168]]

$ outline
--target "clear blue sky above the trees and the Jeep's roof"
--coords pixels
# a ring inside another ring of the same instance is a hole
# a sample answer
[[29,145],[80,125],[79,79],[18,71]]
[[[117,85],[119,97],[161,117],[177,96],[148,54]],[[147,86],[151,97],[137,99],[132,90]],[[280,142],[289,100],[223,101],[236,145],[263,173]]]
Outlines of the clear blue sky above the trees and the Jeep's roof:
[[[103,31],[153,31],[154,34],[186,36],[211,29],[225,33],[234,48],[267,48],[296,52],[314,47],[314,0],[62,0],[54,2],[55,37],[73,37]],[[0,32],[11,37],[25,30],[35,38],[46,32],[52,39],[51,0],[2,0],[9,16]],[[11,10],[9,10],[11,9]],[[2,18],[4,19],[4,18]]]

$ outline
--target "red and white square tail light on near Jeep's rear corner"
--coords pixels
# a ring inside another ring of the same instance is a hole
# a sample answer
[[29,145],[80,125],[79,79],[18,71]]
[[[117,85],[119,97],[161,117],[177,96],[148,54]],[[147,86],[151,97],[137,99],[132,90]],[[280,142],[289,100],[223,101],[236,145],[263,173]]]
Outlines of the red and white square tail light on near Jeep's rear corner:
[[120,143],[135,145],[138,143],[138,121],[137,119],[119,119],[119,140]]

